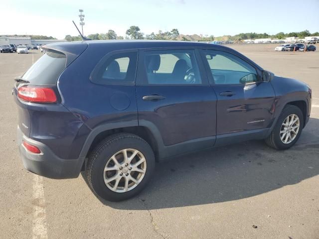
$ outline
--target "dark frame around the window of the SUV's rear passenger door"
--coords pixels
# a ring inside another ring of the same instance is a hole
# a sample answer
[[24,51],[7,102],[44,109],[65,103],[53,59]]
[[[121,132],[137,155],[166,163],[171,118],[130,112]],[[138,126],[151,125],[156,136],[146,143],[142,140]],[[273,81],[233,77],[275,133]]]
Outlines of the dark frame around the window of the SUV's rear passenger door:
[[[159,52],[159,51],[194,51],[195,61],[198,66],[198,71],[201,77],[201,84],[148,84],[146,69],[145,69],[145,53],[146,52]],[[138,70],[137,70],[137,77],[136,77],[136,86],[209,86],[207,73],[205,71],[205,67],[203,65],[201,55],[198,52],[197,47],[155,47],[155,48],[143,48],[139,49],[139,59],[138,59]]]

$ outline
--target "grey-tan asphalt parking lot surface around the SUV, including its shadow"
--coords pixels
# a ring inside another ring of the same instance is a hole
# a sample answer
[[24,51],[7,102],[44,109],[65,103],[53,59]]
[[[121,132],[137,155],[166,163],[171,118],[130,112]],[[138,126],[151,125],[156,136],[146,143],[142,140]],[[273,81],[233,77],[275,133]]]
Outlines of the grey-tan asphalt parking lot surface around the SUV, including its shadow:
[[1,239],[319,239],[319,52],[231,45],[276,75],[313,89],[311,119],[286,151],[263,141],[166,160],[131,200],[99,200],[80,175],[53,180],[23,168],[11,89],[41,55],[0,54]]

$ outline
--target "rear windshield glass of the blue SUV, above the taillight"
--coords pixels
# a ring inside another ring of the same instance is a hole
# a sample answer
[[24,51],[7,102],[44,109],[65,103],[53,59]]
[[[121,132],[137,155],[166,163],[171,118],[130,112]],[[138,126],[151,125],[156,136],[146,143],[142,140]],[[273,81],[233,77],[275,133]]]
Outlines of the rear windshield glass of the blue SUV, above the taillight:
[[66,56],[58,51],[48,50],[22,76],[32,85],[55,85],[65,69]]

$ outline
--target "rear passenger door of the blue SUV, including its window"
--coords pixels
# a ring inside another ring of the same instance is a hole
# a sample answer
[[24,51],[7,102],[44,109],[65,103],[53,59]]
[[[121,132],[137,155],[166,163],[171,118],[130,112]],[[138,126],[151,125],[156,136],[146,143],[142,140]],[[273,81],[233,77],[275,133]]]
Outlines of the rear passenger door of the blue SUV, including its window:
[[136,97],[161,158],[214,145],[217,98],[195,49],[140,50]]

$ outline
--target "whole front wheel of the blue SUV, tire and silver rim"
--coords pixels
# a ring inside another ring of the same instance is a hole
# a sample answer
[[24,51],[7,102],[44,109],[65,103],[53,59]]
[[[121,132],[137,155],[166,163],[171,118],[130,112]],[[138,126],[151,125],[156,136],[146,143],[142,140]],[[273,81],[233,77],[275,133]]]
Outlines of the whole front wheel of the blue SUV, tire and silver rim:
[[276,149],[288,149],[293,146],[304,126],[302,111],[297,106],[287,105],[279,116],[266,143]]

